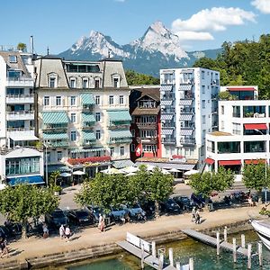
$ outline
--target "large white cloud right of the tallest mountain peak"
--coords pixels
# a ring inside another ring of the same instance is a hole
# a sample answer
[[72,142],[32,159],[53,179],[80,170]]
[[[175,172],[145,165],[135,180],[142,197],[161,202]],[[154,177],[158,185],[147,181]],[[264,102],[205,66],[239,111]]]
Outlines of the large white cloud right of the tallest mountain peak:
[[225,31],[229,25],[255,23],[255,14],[234,7],[212,7],[193,14],[187,20],[177,19],[172,30],[177,31]]

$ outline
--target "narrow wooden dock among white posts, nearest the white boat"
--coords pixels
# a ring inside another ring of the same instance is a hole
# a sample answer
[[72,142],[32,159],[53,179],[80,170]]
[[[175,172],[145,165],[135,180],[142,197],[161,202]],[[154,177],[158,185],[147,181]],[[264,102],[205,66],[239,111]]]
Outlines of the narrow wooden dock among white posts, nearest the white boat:
[[[184,232],[184,234],[190,236],[191,238],[195,238],[202,243],[205,243],[212,247],[217,247],[217,238],[213,238],[194,229],[182,229],[182,231]],[[220,240],[220,247],[233,252],[233,245],[228,242]],[[237,253],[239,255],[247,257],[247,248],[237,246]]]

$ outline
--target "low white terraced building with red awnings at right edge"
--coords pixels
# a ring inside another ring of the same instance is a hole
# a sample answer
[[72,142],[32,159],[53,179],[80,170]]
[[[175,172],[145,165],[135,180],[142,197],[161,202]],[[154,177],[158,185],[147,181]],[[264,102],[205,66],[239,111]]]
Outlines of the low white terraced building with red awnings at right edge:
[[245,164],[269,162],[269,101],[257,100],[257,86],[237,88],[240,100],[219,102],[220,130],[206,135],[206,170],[225,166],[240,175]]

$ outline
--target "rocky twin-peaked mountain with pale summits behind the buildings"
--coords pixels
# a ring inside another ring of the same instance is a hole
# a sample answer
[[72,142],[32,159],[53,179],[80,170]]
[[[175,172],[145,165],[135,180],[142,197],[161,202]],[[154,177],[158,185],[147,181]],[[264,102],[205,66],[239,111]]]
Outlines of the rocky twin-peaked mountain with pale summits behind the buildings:
[[99,60],[101,58],[121,59],[125,69],[159,76],[159,69],[171,67],[192,67],[202,57],[216,58],[220,49],[186,52],[181,48],[180,39],[156,22],[138,40],[119,45],[111,37],[98,31],[83,36],[70,49],[58,54],[59,57],[74,60]]

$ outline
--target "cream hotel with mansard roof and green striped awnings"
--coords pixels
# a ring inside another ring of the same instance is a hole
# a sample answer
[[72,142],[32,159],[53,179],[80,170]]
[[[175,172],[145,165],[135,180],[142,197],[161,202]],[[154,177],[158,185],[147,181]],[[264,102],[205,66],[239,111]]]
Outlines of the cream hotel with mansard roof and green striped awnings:
[[50,170],[89,176],[130,160],[129,88],[122,63],[35,60],[38,130]]

